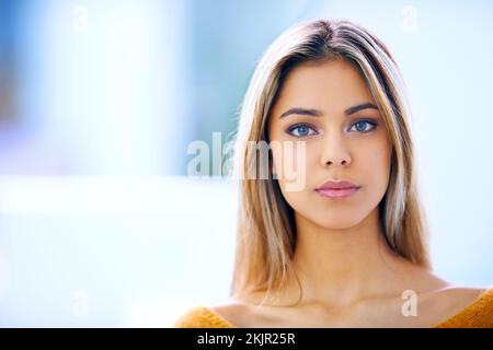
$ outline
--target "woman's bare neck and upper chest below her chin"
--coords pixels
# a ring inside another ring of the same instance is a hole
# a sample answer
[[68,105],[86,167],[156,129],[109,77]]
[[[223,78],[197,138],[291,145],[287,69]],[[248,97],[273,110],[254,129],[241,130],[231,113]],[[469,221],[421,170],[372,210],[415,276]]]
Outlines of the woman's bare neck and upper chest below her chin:
[[301,303],[344,306],[412,287],[409,271],[421,268],[388,247],[378,220],[375,210],[355,226],[334,230],[296,217],[293,265],[302,288]]

